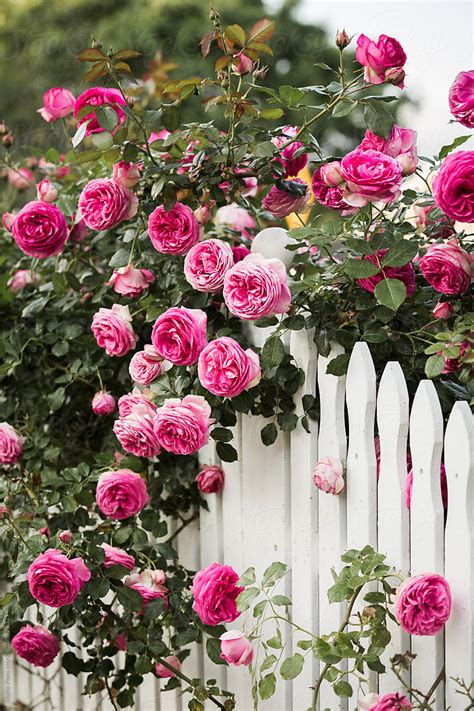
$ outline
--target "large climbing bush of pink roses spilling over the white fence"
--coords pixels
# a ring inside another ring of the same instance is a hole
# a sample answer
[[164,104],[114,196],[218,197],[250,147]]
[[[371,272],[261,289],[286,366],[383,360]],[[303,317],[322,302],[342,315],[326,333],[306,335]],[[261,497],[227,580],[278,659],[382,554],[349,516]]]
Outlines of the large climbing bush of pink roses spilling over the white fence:
[[[428,709],[436,695],[436,679],[379,695],[370,672],[384,672],[389,619],[442,634],[453,601],[439,571],[403,580],[383,551],[349,550],[328,591],[343,623],[318,637],[274,590],[284,562],[256,582],[225,560],[188,570],[173,546],[206,506],[201,494],[226,486],[238,413],[266,418],[268,446],[318,419],[312,395],[295,411],[304,375],[289,331],[313,329],[323,356],[344,347],[332,375],[363,340],[379,373],[402,363],[412,392],[432,378],[446,412],[472,396],[474,151],[462,145],[473,71],[445,91],[459,137],[420,158],[416,132],[391,112],[409,88],[397,39],[339,32],[325,85],[277,92],[265,85],[273,30],[223,27],[212,11],[201,51],[215,55],[215,75],[169,81],[159,106],[134,77],[137,53],[94,41],[78,56],[88,88],[43,97],[52,148],[19,150],[14,127],[0,127],[0,615],[19,658],[47,667],[61,650],[111,708],[132,706],[145,675],[181,687],[192,711],[239,708],[232,689],[187,673],[202,642],[215,664],[250,671],[256,707],[313,654],[308,708],[324,684],[379,711]],[[182,125],[193,101],[209,121]],[[331,155],[318,122],[337,130],[350,114],[361,140]],[[269,328],[263,347],[249,326]],[[211,440],[221,465],[200,466]],[[353,485],[333,457],[306,476],[320,496]],[[295,636],[291,656],[282,629]],[[401,680],[405,651],[392,660]],[[466,708],[470,683],[459,681]]]

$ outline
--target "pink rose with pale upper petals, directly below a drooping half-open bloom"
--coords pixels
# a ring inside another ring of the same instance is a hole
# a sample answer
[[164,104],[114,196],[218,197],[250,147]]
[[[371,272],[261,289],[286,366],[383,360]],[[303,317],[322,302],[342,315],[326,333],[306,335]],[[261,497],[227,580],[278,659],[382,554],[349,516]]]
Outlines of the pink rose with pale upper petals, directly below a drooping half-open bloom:
[[110,356],[124,356],[137,343],[128,306],[114,304],[111,309],[99,309],[92,319],[91,330],[97,345]]

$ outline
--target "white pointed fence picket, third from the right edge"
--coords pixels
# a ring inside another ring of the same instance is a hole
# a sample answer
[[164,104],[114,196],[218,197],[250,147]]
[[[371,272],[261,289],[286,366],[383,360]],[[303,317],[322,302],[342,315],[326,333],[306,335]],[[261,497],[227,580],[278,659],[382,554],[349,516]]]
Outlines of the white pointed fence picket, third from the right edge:
[[[387,363],[379,385],[377,424],[380,437],[380,477],[378,481],[378,550],[387,564],[403,577],[410,572],[410,519],[405,505],[409,399],[405,376],[399,363]],[[410,650],[410,637],[392,620],[392,639],[382,662],[390,670],[395,654]],[[405,680],[408,682],[407,674]],[[379,691],[388,694],[400,689],[396,676],[387,671],[379,677]]]

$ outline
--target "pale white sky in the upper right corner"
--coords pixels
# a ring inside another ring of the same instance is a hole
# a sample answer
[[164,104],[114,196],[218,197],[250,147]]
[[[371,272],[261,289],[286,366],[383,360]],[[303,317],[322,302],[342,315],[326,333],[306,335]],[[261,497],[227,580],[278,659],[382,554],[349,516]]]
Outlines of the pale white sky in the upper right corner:
[[[267,0],[277,8],[281,0]],[[474,68],[474,2],[463,0],[302,0],[299,20],[325,27],[330,35],[345,28],[350,35],[380,34],[399,40],[407,54],[404,91],[416,102],[400,123],[418,131],[420,155],[469,131],[449,124],[448,91],[456,74]],[[474,148],[474,139],[469,144]]]

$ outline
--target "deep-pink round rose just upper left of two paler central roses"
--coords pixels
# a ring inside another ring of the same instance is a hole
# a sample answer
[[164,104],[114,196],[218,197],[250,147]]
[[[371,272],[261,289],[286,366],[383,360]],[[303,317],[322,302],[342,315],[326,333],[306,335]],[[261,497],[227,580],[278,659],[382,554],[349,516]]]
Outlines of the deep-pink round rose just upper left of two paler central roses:
[[199,222],[182,202],[168,212],[159,205],[148,218],[148,234],[157,252],[183,255],[199,241]]

